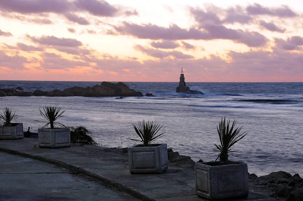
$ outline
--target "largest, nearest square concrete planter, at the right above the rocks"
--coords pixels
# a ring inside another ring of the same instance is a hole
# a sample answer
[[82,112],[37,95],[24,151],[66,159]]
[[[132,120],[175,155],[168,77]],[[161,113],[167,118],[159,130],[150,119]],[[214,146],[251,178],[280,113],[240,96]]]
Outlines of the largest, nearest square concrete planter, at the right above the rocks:
[[218,162],[195,164],[195,188],[199,197],[227,199],[248,196],[248,171],[243,162],[218,165]]

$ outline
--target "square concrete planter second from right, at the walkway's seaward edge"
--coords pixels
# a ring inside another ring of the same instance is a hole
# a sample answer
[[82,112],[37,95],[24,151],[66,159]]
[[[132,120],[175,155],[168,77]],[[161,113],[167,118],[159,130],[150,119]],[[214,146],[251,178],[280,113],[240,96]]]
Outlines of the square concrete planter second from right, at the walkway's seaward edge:
[[167,145],[134,145],[128,148],[131,174],[162,173],[168,168]]

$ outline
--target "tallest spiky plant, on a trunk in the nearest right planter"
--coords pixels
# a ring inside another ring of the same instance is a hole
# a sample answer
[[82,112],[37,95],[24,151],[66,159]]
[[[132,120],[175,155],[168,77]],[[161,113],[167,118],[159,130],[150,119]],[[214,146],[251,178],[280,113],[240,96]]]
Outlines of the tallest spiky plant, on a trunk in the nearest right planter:
[[215,151],[220,152],[218,158],[221,165],[228,165],[228,153],[236,152],[231,149],[232,145],[242,139],[247,132],[243,132],[239,134],[242,127],[235,128],[236,120],[233,120],[231,127],[229,127],[230,119],[225,121],[225,117],[221,118],[221,122],[219,123],[219,128],[217,126],[217,131],[219,134],[221,145],[215,144]]

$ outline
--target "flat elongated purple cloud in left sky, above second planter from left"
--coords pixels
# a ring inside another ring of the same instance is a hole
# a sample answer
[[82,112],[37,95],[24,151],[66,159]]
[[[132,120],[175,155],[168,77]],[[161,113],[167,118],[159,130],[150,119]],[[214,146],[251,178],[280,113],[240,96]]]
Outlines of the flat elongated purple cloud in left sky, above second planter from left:
[[74,38],[58,38],[55,36],[29,36],[26,35],[31,41],[42,45],[57,45],[66,47],[78,47],[82,45],[82,42]]

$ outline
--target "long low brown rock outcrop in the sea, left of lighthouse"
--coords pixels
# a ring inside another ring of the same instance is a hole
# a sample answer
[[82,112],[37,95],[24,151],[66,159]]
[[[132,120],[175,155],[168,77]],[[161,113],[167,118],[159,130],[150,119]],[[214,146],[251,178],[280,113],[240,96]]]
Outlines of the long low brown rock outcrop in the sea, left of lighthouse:
[[111,83],[102,82],[93,87],[74,86],[63,91],[55,89],[53,91],[35,90],[33,92],[24,91],[23,88],[0,89],[0,96],[85,96],[85,97],[103,97],[103,96],[143,96],[139,91],[130,89],[123,82]]

